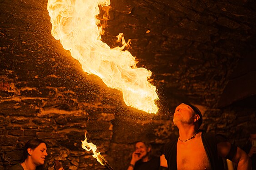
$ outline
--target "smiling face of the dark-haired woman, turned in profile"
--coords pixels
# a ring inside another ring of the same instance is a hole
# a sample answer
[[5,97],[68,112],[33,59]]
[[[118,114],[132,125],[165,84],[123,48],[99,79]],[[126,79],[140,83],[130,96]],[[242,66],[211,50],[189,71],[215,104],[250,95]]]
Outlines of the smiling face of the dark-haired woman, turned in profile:
[[36,166],[43,165],[45,163],[45,157],[48,155],[46,152],[47,148],[45,143],[40,143],[34,150],[31,152],[31,160]]

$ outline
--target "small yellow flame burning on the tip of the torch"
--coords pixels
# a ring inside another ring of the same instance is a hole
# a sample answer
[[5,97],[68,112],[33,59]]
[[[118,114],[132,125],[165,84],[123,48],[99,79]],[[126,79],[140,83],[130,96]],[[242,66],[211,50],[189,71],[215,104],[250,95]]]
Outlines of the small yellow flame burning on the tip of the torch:
[[105,160],[105,158],[103,156],[100,155],[100,152],[96,152],[97,150],[97,146],[94,145],[93,143],[88,143],[87,142],[87,138],[86,138],[86,133],[85,133],[85,140],[81,141],[82,142],[82,148],[85,149],[86,151],[92,151],[93,152],[93,157],[96,158],[98,160],[98,162],[100,162],[101,165],[105,165],[102,161]]

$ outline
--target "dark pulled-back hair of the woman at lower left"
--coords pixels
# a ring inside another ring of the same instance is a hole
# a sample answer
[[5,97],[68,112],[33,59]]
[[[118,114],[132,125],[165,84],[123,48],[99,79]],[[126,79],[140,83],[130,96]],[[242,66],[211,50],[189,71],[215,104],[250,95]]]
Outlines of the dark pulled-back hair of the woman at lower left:
[[[45,141],[42,141],[40,139],[30,139],[29,141],[27,141],[27,143],[24,146],[24,150],[23,150],[23,161],[25,161],[25,159],[28,158],[29,153],[28,153],[28,148],[31,148],[32,150],[35,149],[37,146],[39,146],[41,143],[45,143]],[[46,147],[47,144],[45,143]],[[43,170],[44,166],[40,165],[36,167],[36,170]]]

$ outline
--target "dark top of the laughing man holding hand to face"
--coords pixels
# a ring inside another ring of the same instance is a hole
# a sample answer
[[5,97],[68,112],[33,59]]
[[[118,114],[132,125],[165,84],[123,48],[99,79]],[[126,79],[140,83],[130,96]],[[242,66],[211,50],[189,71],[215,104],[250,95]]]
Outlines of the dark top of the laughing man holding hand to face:
[[158,170],[160,167],[160,157],[152,157],[147,162],[138,160],[134,166],[134,170]]

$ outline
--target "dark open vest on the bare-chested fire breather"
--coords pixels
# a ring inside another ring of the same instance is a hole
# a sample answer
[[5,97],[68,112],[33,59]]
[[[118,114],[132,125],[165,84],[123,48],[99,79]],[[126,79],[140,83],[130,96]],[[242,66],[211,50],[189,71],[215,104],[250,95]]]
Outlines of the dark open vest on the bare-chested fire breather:
[[[217,144],[221,141],[227,141],[223,136],[214,133],[206,133],[202,131],[202,143],[206,151],[206,155],[210,162],[211,170],[224,170],[223,160],[218,156]],[[177,170],[177,142],[178,137],[167,143],[161,149],[161,155],[165,155],[168,170]]]

